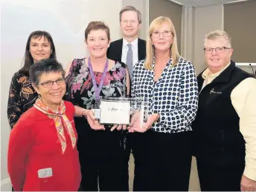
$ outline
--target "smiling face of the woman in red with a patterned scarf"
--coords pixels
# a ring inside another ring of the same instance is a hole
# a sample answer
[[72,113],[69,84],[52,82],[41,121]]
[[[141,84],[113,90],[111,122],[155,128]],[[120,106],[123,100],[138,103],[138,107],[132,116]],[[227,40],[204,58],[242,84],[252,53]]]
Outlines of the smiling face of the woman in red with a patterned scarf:
[[[54,83],[51,84],[51,82]],[[45,105],[48,105],[51,109],[56,109],[65,94],[65,79],[63,78],[63,73],[42,73],[39,77],[39,84],[33,85],[33,87],[41,96],[42,102],[44,102]]]

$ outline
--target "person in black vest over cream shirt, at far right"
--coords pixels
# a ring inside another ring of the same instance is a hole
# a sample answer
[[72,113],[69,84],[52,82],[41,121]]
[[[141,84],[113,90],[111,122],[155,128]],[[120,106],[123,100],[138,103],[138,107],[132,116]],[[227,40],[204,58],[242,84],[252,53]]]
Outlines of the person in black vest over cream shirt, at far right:
[[208,68],[197,77],[199,107],[192,126],[201,190],[255,191],[256,79],[231,61],[225,31],[205,36],[204,50]]

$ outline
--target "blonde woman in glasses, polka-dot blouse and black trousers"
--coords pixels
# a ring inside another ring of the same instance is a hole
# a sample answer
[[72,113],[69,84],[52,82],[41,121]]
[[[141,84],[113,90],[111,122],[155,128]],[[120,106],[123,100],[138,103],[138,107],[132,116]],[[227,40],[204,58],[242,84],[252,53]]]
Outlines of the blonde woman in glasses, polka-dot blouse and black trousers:
[[169,18],[161,16],[150,24],[147,57],[135,64],[132,75],[132,97],[149,103],[144,126],[135,113],[128,128],[140,132],[132,141],[133,191],[188,191],[198,90],[193,64],[179,56]]

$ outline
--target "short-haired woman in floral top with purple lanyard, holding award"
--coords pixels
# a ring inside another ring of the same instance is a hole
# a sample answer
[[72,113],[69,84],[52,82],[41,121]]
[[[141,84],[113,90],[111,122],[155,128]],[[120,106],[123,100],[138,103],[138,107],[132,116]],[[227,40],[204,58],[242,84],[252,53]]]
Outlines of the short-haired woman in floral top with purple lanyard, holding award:
[[86,117],[74,118],[82,172],[80,190],[128,191],[125,127],[98,124],[91,109],[98,96],[126,96],[129,73],[126,64],[107,59],[110,34],[103,22],[90,22],[85,39],[90,56],[68,64],[65,96]]

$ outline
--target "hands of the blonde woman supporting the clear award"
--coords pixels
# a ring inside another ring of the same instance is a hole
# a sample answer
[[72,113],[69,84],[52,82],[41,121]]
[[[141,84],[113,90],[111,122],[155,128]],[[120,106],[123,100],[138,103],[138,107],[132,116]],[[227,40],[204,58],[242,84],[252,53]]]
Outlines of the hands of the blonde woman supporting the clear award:
[[144,133],[147,130],[149,130],[152,127],[153,123],[155,123],[158,119],[159,119],[159,113],[153,113],[152,115],[148,116],[147,122],[141,126],[139,114],[137,113],[133,116],[132,122],[127,129],[129,130],[130,133],[134,133],[134,132]]

